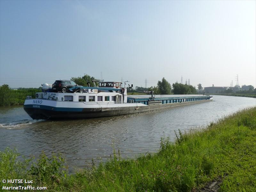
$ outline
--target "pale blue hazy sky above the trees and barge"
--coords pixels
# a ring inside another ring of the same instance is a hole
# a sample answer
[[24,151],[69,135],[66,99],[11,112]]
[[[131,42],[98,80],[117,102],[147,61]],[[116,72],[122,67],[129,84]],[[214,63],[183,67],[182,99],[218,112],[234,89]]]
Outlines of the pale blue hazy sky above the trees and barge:
[[0,1],[0,85],[88,74],[256,87],[256,1]]

